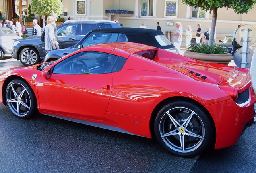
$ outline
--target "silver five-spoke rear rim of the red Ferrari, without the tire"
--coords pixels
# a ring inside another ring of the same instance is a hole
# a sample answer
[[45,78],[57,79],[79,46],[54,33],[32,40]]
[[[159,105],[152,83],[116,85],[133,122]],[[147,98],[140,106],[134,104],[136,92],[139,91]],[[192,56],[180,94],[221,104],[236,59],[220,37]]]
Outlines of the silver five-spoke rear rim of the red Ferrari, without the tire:
[[159,131],[163,142],[170,149],[181,153],[198,149],[205,135],[202,119],[185,107],[166,111],[160,120]]

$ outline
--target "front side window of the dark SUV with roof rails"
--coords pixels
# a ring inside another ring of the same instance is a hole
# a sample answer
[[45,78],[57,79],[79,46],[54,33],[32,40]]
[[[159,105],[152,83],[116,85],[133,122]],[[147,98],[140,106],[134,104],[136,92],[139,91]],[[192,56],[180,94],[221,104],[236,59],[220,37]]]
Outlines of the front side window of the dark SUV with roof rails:
[[58,27],[57,34],[58,36],[72,36],[77,35],[78,24],[66,24]]

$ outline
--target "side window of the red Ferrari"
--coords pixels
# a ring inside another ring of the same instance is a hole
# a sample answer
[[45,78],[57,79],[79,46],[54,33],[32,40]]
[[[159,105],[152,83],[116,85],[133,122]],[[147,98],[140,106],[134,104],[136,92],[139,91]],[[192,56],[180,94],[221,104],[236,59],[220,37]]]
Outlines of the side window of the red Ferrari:
[[102,52],[79,52],[56,64],[55,74],[104,74],[113,69],[118,56]]

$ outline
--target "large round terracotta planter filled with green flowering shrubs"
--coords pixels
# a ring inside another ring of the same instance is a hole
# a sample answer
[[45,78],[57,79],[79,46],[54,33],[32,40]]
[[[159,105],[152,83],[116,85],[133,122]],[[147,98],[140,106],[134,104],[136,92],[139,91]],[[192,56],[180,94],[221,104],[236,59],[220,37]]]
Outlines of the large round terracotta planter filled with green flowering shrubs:
[[233,56],[227,52],[227,48],[221,44],[196,44],[191,43],[184,56],[208,63],[227,65]]

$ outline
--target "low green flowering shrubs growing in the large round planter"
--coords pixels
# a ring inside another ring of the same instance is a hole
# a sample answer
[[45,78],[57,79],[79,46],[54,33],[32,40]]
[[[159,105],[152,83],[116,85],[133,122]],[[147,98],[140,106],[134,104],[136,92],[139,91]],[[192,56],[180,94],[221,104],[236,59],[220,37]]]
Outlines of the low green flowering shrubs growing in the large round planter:
[[205,53],[205,54],[227,54],[227,48],[221,44],[196,44],[191,43],[188,50],[196,53]]

